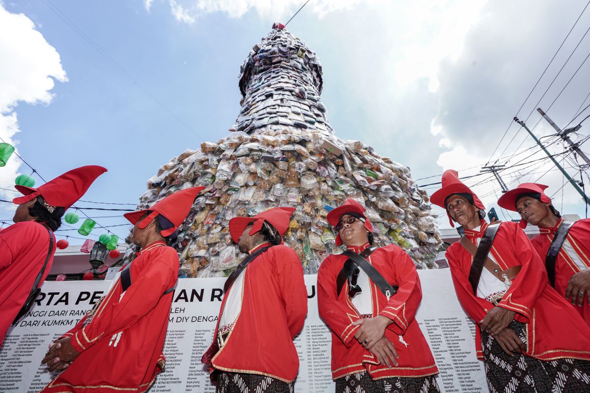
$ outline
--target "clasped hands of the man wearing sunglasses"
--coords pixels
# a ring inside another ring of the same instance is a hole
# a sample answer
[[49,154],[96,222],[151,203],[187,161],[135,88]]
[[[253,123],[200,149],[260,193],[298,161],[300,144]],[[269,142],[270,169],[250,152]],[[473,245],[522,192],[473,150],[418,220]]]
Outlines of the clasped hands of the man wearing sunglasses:
[[360,345],[377,357],[383,366],[397,366],[399,358],[391,341],[385,337],[385,329],[391,323],[391,319],[378,315],[375,318],[359,319],[352,322],[353,326],[360,326],[356,331],[355,338]]

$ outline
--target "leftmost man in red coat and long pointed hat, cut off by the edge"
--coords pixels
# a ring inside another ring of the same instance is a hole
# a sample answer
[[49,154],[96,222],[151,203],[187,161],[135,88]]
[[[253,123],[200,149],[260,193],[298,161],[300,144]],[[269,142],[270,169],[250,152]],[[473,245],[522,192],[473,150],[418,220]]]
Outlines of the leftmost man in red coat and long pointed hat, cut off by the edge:
[[15,223],[0,232],[0,346],[31,290],[37,289],[32,288],[37,278],[40,286],[51,270],[53,231],[60,227],[61,216],[106,171],[90,165],[68,171],[37,189],[15,186],[24,196],[12,201],[18,204]]

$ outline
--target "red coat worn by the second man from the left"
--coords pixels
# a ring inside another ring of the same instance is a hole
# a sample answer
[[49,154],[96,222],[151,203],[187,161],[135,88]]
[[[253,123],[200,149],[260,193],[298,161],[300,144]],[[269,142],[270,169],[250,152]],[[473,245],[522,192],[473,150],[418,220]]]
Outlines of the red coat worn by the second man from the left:
[[162,371],[162,346],[172,293],[178,279],[178,253],[164,242],[144,247],[133,260],[131,286],[120,279],[94,309],[64,334],[80,355],[41,392],[145,392]]

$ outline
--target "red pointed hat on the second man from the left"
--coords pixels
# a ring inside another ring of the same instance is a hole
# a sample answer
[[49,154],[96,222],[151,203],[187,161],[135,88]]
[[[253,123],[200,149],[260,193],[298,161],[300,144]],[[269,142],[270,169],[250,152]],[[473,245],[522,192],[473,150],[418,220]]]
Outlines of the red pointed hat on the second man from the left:
[[203,189],[205,189],[205,187],[191,187],[190,189],[176,191],[172,195],[160,199],[149,209],[125,213],[123,216],[129,220],[130,223],[135,225],[142,218],[143,214],[152,212],[137,226],[139,229],[144,229],[153,219],[158,217],[158,214],[162,214],[162,216],[166,217],[166,219],[174,225],[173,227],[164,229],[160,232],[160,235],[163,237],[168,237],[184,222],[186,216],[188,216],[188,213],[191,211],[191,206],[195,202],[196,196]]

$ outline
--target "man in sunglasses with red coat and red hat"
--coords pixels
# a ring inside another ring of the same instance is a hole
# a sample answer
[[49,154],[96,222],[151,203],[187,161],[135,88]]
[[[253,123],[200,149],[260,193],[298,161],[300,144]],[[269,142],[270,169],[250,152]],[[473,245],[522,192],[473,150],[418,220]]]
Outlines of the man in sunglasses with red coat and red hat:
[[347,199],[328,213],[328,222],[338,230],[336,244],[344,243],[365,258],[376,274],[398,289],[395,294],[389,289],[383,293],[379,276],[372,277],[375,272],[353,264],[348,255],[330,255],[322,262],[317,302],[332,330],[336,393],[440,392],[437,366],[414,319],[422,300],[414,262],[396,245],[371,247],[373,227],[364,212],[359,202]]

